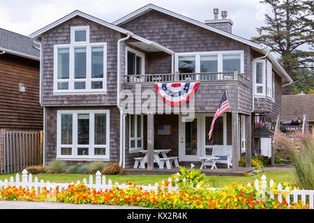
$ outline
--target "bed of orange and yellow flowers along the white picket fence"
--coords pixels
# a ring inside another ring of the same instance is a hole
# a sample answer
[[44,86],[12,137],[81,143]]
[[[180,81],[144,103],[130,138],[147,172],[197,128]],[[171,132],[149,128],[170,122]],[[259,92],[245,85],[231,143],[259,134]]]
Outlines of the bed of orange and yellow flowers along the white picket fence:
[[[141,187],[129,183],[128,189],[113,187],[111,190],[91,190],[83,184],[69,185],[64,191],[59,188],[36,193],[27,189],[7,187],[0,190],[0,200],[15,201],[54,201],[63,203],[92,203],[120,206],[143,206],[148,208],[210,208],[210,209],[306,209],[308,205],[294,203],[288,206],[286,201],[280,203],[276,197],[261,196],[254,185],[245,186],[239,183],[225,186],[219,190],[209,190],[206,187],[194,188],[188,183],[182,184],[179,192],[168,192],[169,182],[159,185],[158,191],[144,191]],[[267,193],[266,193],[267,194]],[[276,193],[275,193],[276,196]]]

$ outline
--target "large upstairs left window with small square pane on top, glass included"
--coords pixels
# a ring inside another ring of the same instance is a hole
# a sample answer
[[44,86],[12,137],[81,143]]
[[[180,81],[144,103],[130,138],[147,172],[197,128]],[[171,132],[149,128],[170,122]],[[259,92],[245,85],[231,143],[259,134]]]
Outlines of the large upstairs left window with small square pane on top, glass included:
[[107,43],[90,43],[89,26],[72,26],[70,44],[54,45],[54,94],[106,93]]

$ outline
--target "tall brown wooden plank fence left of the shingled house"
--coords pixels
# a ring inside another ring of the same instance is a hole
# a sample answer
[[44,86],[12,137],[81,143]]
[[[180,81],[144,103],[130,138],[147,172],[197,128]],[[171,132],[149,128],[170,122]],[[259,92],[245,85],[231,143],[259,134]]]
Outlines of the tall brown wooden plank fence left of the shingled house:
[[0,130],[0,173],[20,172],[43,162],[43,131]]

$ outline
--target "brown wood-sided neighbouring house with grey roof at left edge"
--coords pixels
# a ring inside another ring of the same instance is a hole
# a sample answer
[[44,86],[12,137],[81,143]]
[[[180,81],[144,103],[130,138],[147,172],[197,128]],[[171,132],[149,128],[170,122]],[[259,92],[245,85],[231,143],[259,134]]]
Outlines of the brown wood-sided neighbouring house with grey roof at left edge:
[[0,129],[43,130],[39,45],[0,29]]

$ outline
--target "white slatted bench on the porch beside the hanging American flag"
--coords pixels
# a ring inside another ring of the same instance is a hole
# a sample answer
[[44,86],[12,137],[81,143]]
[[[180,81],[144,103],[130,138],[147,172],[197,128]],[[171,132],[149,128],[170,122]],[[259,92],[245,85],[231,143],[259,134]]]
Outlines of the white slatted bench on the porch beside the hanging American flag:
[[[232,166],[232,146],[231,145],[214,145],[213,146],[213,152],[211,153],[211,156],[226,156],[225,159],[219,159],[216,161],[217,163],[227,164],[227,168],[230,169],[230,166]],[[204,155],[202,157],[199,157],[202,162],[202,167],[207,163],[207,156]]]

